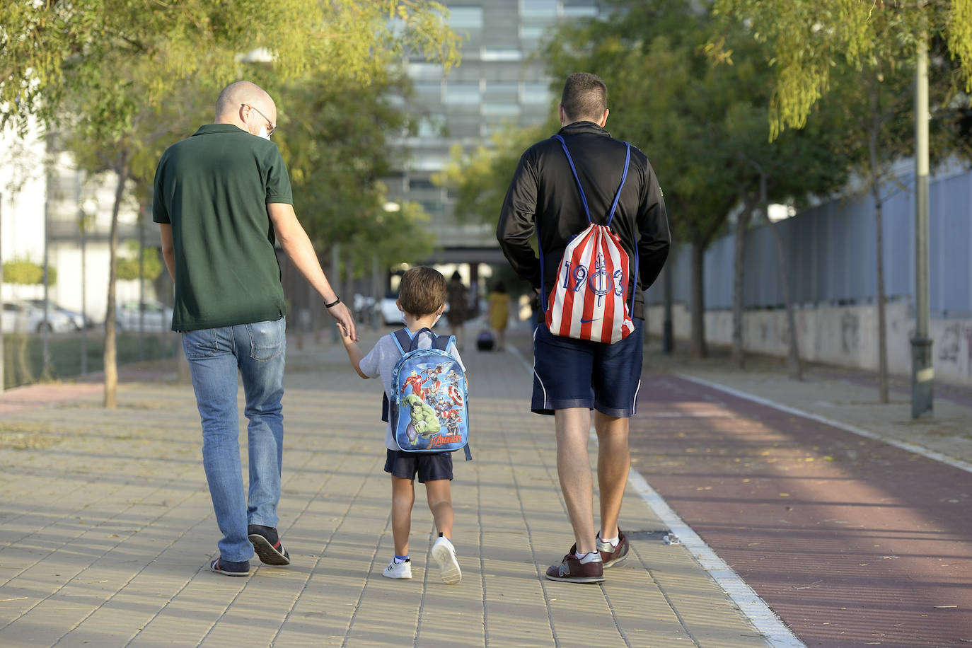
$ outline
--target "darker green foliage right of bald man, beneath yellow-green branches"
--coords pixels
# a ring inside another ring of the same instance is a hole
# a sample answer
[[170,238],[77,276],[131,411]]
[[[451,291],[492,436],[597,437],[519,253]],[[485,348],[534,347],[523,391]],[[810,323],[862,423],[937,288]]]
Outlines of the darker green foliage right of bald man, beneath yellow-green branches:
[[427,220],[417,204],[386,212],[387,188],[396,161],[390,135],[407,116],[391,95],[406,92],[407,79],[386,68],[370,83],[354,78],[308,76],[282,85],[276,141],[288,161],[295,211],[318,249],[334,242],[341,256],[369,272],[372,256],[391,265],[429,254],[434,241],[409,235]]

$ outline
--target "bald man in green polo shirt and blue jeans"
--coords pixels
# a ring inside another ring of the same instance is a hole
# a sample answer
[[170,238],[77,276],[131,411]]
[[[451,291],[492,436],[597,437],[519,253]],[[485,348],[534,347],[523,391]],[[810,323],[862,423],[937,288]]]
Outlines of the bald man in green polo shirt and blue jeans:
[[[210,568],[250,574],[260,562],[290,564],[277,532],[283,463],[287,305],[274,252],[279,243],[328,313],[357,339],[351,311],[331,289],[294,213],[287,166],[270,136],[277,107],[260,86],[227,85],[216,122],[162,153],[153,220],[175,282],[172,330],[180,331],[202,420],[202,463],[223,538]],[[239,453],[237,373],[249,419],[249,492]]]

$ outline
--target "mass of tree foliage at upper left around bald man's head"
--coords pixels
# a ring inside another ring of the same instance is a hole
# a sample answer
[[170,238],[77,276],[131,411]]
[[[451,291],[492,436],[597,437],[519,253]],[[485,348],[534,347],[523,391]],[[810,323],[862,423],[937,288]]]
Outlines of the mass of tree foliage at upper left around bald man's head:
[[[376,178],[389,168],[386,133],[403,124],[381,98],[401,84],[390,68],[414,54],[446,71],[459,61],[448,12],[429,0],[28,5],[0,7],[4,123],[37,115],[67,133],[83,168],[111,169],[144,191],[161,151],[212,120],[224,85],[250,78],[277,99],[275,140],[293,155],[308,230],[319,242],[358,242],[351,247],[389,234],[376,225],[391,218],[378,209]],[[394,220],[407,229],[421,214],[407,206]],[[129,265],[121,259],[120,276],[131,275]]]

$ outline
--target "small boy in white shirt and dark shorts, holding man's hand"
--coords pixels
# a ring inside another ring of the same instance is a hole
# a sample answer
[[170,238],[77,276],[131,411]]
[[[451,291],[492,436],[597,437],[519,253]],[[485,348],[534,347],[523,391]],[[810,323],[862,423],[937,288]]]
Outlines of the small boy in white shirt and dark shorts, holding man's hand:
[[[399,300],[396,302],[405,320],[405,327],[412,339],[424,327],[432,328],[442,311],[445,310],[447,287],[445,277],[437,270],[416,267],[401,277]],[[340,326],[338,326],[340,327]],[[392,369],[401,358],[395,343],[394,334],[378,340],[374,348],[362,357],[362,351],[354,340],[341,329],[344,348],[348,352],[352,366],[362,378],[381,377],[385,393],[392,398]],[[419,348],[432,345],[428,331],[421,333]],[[448,353],[463,366],[462,358],[455,344],[450,344]],[[463,369],[465,370],[465,366]],[[395,538],[395,557],[388,563],[382,576],[388,578],[411,578],[412,566],[408,558],[408,533],[412,524],[412,505],[415,503],[414,480],[416,473],[419,483],[425,484],[429,508],[435,520],[438,538],[432,547],[432,556],[438,563],[442,582],[452,585],[463,578],[456,561],[456,550],[452,545],[452,496],[449,482],[452,480],[452,454],[405,453],[395,442],[395,432],[391,424],[385,427],[385,447],[387,458],[385,472],[392,473],[392,534]]]

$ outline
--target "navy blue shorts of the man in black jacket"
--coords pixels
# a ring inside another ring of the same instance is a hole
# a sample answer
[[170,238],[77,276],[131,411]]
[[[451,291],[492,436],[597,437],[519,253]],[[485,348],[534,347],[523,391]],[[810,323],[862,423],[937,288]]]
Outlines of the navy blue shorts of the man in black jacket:
[[570,407],[614,417],[635,414],[642,386],[642,319],[614,344],[554,335],[546,324],[534,331],[534,397],[530,409],[553,414]]

